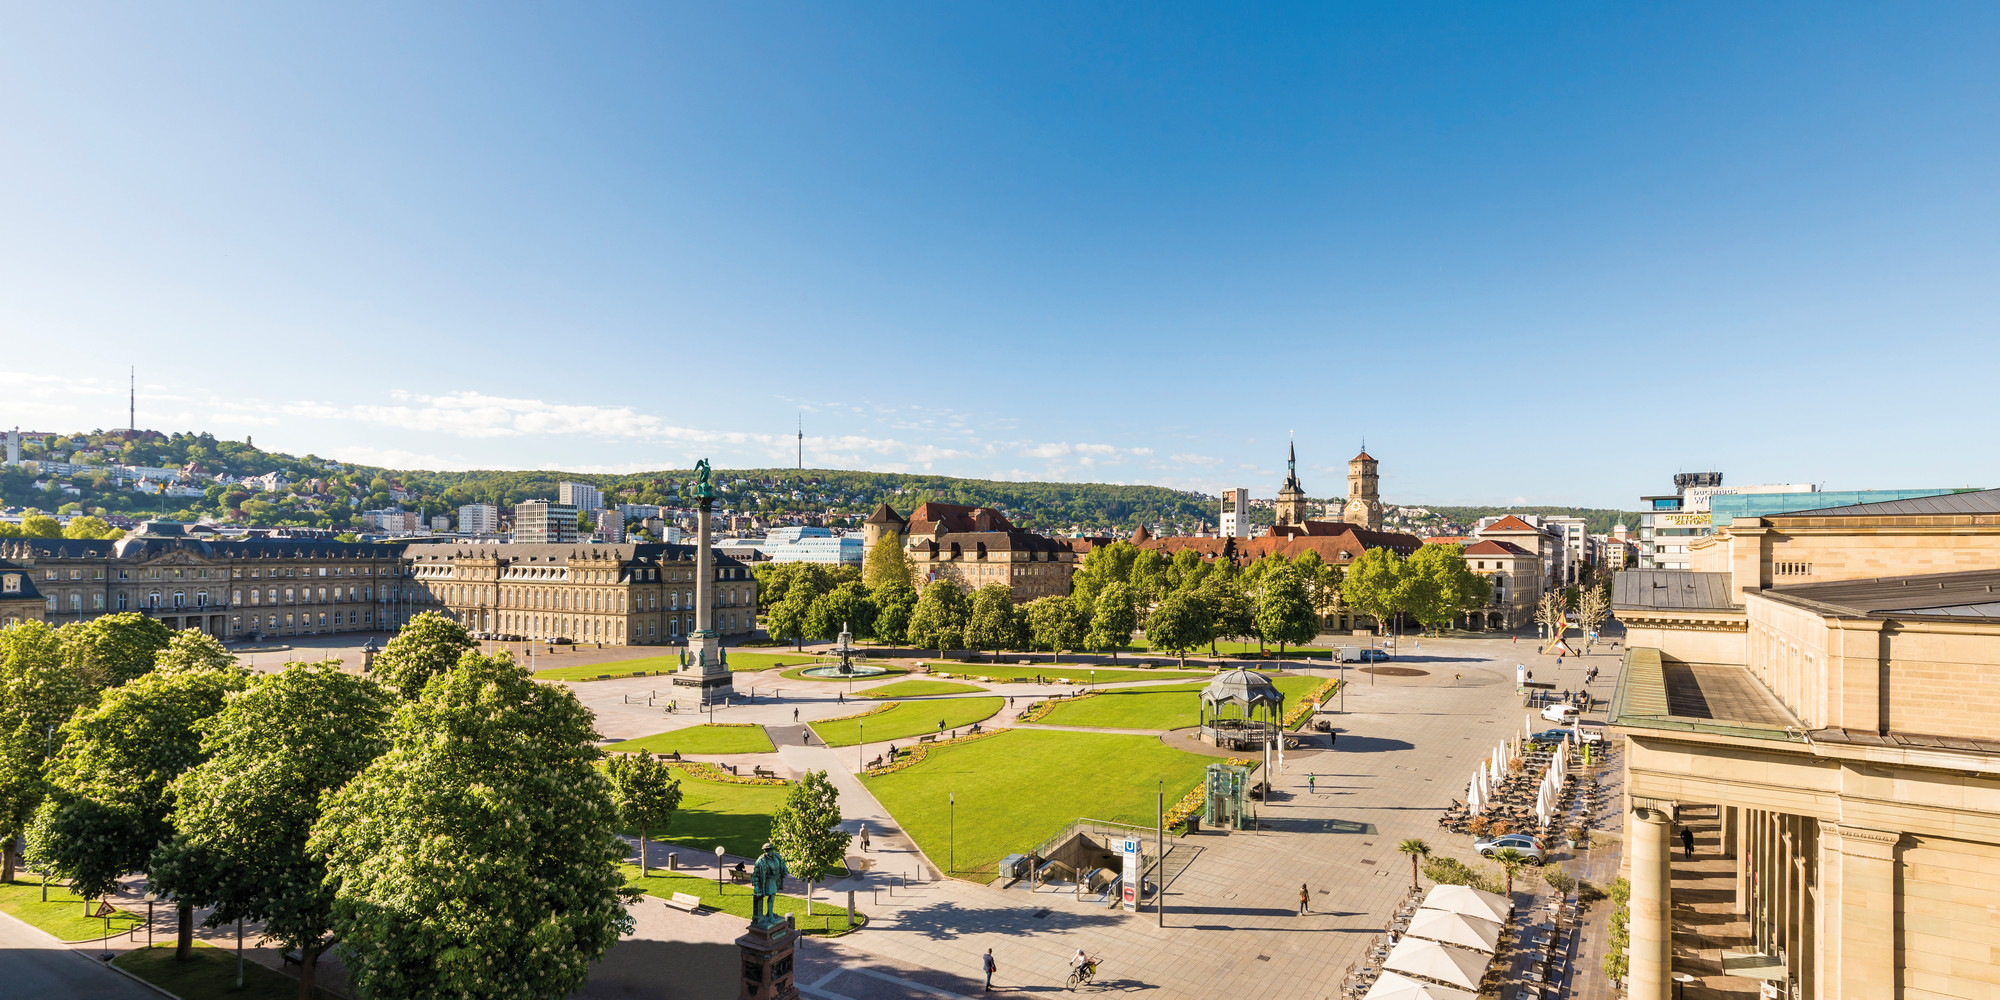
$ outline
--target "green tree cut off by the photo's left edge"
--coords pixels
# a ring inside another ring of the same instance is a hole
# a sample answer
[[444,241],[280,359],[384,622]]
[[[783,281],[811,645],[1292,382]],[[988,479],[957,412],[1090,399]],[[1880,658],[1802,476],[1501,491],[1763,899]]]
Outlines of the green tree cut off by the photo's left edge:
[[0,628],[0,882],[14,880],[14,844],[48,788],[42,764],[60,746],[60,726],[94,700],[96,690],[70,668],[54,628]]

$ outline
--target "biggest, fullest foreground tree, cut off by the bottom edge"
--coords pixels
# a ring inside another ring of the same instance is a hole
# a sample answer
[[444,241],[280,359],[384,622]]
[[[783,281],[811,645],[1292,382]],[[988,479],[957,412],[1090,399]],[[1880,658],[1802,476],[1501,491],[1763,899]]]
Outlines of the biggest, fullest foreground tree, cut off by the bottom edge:
[[324,800],[348,974],[378,1000],[542,1000],[632,930],[618,808],[590,710],[506,656],[404,704],[390,750]]

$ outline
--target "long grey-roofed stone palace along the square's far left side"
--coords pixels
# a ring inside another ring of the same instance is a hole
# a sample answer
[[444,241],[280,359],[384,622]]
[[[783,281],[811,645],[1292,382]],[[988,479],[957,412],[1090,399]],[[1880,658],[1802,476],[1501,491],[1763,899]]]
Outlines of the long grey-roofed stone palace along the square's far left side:
[[[716,630],[756,628],[750,568],[714,554]],[[472,632],[606,644],[694,630],[694,546],[206,540],[146,522],[116,542],[0,542],[0,624],[144,612],[216,638],[394,630],[444,612]]]

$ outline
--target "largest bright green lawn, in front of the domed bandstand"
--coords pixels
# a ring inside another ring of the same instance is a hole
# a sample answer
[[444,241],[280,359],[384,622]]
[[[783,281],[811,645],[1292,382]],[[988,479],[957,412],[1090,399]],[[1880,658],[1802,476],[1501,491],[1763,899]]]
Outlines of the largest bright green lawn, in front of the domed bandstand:
[[[864,784],[930,860],[956,858],[962,878],[984,882],[1002,856],[1026,852],[1078,818],[1152,826],[1160,782],[1172,806],[1214,760],[1152,736],[1008,730],[940,746],[922,764]],[[956,836],[946,794],[958,796]]]

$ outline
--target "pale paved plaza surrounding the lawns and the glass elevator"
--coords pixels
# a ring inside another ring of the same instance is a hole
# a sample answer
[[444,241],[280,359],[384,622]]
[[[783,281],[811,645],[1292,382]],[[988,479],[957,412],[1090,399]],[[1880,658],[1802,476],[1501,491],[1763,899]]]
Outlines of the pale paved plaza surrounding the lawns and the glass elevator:
[[[854,778],[858,762],[872,760],[886,744],[824,748],[796,738],[794,708],[802,722],[858,710],[836,700],[844,684],[784,680],[778,672],[738,674],[738,690],[754,688],[756,704],[722,708],[714,720],[768,726],[780,744],[776,754],[734,760],[770,766],[776,758],[776,770],[786,776],[828,770],[840,788],[848,828],[866,822],[872,832],[868,872],[830,886],[834,894],[856,890],[870,924],[804,948],[796,982],[808,996],[976,994],[982,986],[980,956],[988,948],[1000,964],[996,990],[1060,990],[1070,954],[1084,948],[1104,958],[1098,988],[1160,996],[1230,990],[1330,998],[1408,894],[1410,860],[1396,852],[1400,840],[1424,838],[1436,854],[1478,862],[1470,838],[1440,830],[1436,818],[1452,800],[1464,798],[1476,762],[1522,730],[1526,710],[1514,690],[1514,664],[1528,664],[1534,680],[1552,682],[1558,690],[1582,688],[1584,668],[1598,666],[1592,692],[1604,698],[1616,684],[1618,658],[1604,652],[1568,658],[1558,668],[1556,658],[1538,656],[1526,640],[1438,638],[1420,646],[1404,640],[1404,654],[1392,664],[1422,670],[1422,676],[1376,676],[1350,668],[1344,712],[1326,716],[1340,730],[1336,748],[1326,746],[1326,736],[1308,734],[1304,748],[1286,754],[1284,770],[1272,776],[1274,794],[1262,806],[1262,830],[1170,838],[1170,870],[1178,876],[1166,888],[1164,926],[1150,906],[1124,914],[1094,902],[1094,896],[1078,902],[1072,886],[1030,892],[1024,884],[996,888],[938,878],[936,864],[902,836],[894,818]],[[970,672],[976,674],[976,668]],[[1302,672],[1332,674],[1326,664]],[[708,714],[666,714],[646,706],[648,692],[664,692],[660,680],[600,680],[572,688],[596,710],[598,728],[608,738],[708,722]],[[878,684],[896,680],[904,678]],[[1186,680],[1152,684],[1176,682]],[[856,684],[856,690],[866,686]],[[996,684],[994,690],[1012,696],[1014,706],[990,726],[1020,726],[1014,716],[1032,700],[1072,688]],[[1536,718],[1536,728],[1544,726]],[[1114,768],[1116,762],[1094,766]],[[1612,838],[1604,844],[1616,850]],[[1024,842],[1022,850],[1030,846]],[[852,852],[858,856],[858,846]],[[1606,848],[1600,846],[1598,854]],[[1606,864],[1606,858],[1566,858],[1560,850],[1556,860],[1592,870]],[[1608,860],[1616,864],[1614,854]],[[1298,914],[1300,884],[1310,888],[1312,898],[1304,916]],[[1518,880],[1522,904],[1530,902],[1530,888],[1538,888],[1538,880]],[[658,902],[650,906],[666,910]],[[720,916],[654,912],[620,950],[700,944],[710,940],[720,920],[740,926]],[[608,968],[614,964],[608,962]],[[606,986],[594,982],[586,996],[678,996],[610,992]]]

